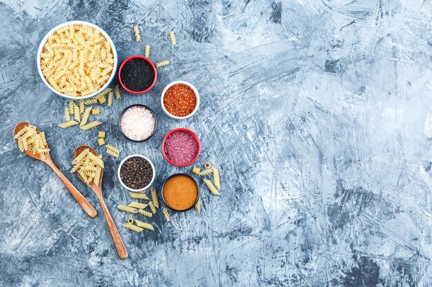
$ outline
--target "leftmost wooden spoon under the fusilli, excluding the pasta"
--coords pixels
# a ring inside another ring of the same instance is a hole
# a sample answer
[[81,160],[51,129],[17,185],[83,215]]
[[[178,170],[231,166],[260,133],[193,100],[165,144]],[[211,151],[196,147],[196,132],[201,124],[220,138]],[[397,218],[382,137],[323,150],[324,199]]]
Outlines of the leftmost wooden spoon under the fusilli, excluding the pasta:
[[[21,129],[23,129],[23,127],[26,127],[27,125],[30,125],[30,123],[19,123],[14,129],[14,135],[16,135],[19,131],[21,131]],[[40,133],[41,131],[39,131],[39,129],[37,129],[37,132]],[[15,140],[15,141],[18,144],[18,140]],[[46,145],[46,148],[48,149],[48,145]],[[90,204],[90,202],[88,202],[88,200],[86,200],[86,198],[84,198],[84,196],[78,191],[78,189],[73,186],[73,184],[68,180],[68,178],[66,178],[66,176],[64,176],[63,173],[61,173],[61,171],[59,171],[59,169],[56,167],[54,162],[52,162],[52,159],[51,159],[49,152],[46,153],[45,158],[41,158],[41,156],[39,154],[35,154],[35,153],[30,152],[30,151],[24,151],[24,153],[26,153],[27,156],[30,156],[30,158],[35,158],[37,160],[40,160],[41,162],[45,162],[46,164],[48,164],[48,166],[60,178],[61,182],[63,182],[63,184],[66,186],[66,188],[70,191],[70,193],[75,198],[75,200],[77,200],[78,204],[81,205],[81,207],[84,209],[84,211],[86,211],[88,216],[90,216],[92,218],[96,217],[96,215],[97,215],[96,209],[92,206],[92,204]]]

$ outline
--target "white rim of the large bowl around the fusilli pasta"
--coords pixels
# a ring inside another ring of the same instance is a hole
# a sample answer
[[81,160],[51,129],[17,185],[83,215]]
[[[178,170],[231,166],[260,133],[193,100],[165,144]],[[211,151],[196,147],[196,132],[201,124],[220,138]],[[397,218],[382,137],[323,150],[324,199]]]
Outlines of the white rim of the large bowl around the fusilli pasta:
[[[111,45],[111,50],[112,50],[112,55],[114,56],[114,68],[112,69],[111,72],[111,76],[108,79],[108,81],[105,83],[105,85],[103,87],[101,87],[100,89],[98,89],[96,92],[89,94],[87,96],[68,96],[65,94],[61,94],[61,92],[57,91],[55,88],[51,87],[51,85],[46,81],[45,76],[43,76],[42,74],[42,70],[41,70],[41,53],[43,50],[43,45],[45,45],[46,41],[48,40],[48,37],[51,36],[52,34],[54,34],[54,32],[66,25],[89,25],[92,28],[95,28],[96,30],[98,30],[99,32],[101,32],[102,35],[104,35],[105,39],[110,43]],[[55,94],[63,97],[63,98],[68,98],[70,100],[85,100],[87,98],[92,98],[93,96],[96,96],[97,94],[99,94],[100,92],[102,92],[104,89],[106,89],[106,87],[108,87],[108,85],[110,85],[112,79],[115,76],[115,72],[117,70],[117,51],[115,50],[115,46],[114,43],[112,42],[110,36],[108,36],[108,34],[106,34],[106,32],[104,30],[102,30],[101,28],[99,28],[97,25],[92,24],[92,23],[88,23],[86,21],[69,21],[69,22],[65,22],[62,23],[60,25],[57,25],[55,28],[52,28],[52,30],[50,30],[50,32],[48,32],[42,39],[41,44],[39,45],[39,49],[37,50],[37,70],[39,71],[39,76],[41,76],[43,83],[45,83],[45,85],[47,87],[49,87],[51,89],[52,92],[55,92]]]

